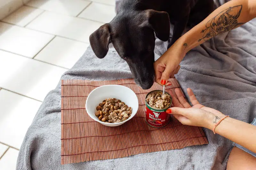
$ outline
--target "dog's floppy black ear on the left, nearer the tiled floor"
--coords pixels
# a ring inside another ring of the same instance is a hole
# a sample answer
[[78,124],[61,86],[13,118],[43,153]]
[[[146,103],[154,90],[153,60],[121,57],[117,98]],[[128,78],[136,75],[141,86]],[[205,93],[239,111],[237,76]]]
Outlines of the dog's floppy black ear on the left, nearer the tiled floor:
[[90,35],[89,40],[95,55],[98,58],[104,58],[108,53],[108,45],[110,43],[109,24],[100,26]]

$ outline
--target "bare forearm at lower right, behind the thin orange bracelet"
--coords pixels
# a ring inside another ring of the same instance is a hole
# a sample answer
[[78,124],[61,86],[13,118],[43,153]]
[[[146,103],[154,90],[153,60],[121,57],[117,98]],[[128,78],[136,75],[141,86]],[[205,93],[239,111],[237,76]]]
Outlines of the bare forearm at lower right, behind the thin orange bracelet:
[[[210,123],[207,128],[212,130],[214,125]],[[215,132],[256,153],[256,126],[227,117],[216,126]]]

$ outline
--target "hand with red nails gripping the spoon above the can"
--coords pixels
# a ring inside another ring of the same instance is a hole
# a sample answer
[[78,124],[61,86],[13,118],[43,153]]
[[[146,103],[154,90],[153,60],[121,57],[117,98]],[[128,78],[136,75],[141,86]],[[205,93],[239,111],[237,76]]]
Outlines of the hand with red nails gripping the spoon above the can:
[[173,78],[180,70],[180,62],[185,56],[184,46],[175,42],[165,53],[154,63],[156,82],[160,85],[171,85],[169,78]]

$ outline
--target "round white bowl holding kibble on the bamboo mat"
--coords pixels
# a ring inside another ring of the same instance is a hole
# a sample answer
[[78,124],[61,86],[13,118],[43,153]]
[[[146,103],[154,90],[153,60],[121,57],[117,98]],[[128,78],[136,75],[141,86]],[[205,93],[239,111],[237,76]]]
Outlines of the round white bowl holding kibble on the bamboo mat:
[[[97,116],[95,116],[95,112],[97,112],[96,107],[102,103],[103,100],[108,98],[119,99],[129,107],[132,107],[132,115],[124,122],[119,123],[106,123],[100,121]],[[103,85],[90,92],[85,103],[85,108],[88,115],[95,121],[105,126],[119,126],[129,121],[134,115],[136,115],[139,108],[139,101],[136,94],[128,87],[123,85]]]

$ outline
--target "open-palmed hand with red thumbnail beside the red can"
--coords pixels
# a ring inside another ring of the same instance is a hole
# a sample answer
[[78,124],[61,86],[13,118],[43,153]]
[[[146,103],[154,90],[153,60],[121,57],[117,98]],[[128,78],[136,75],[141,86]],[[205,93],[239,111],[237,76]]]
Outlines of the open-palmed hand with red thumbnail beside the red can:
[[221,118],[225,117],[218,110],[201,105],[190,88],[187,89],[187,92],[193,104],[192,107],[183,97],[179,88],[175,89],[178,99],[170,89],[166,90],[166,92],[172,96],[172,104],[174,106],[167,109],[166,112],[172,114],[182,124],[212,129]]

